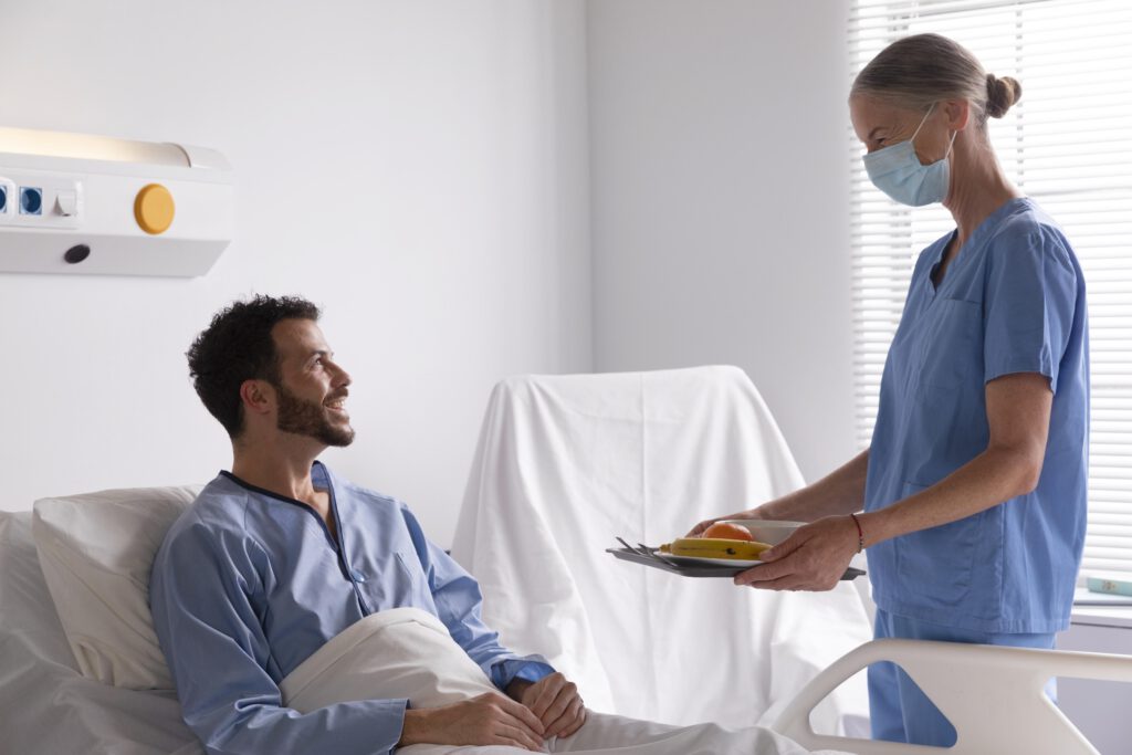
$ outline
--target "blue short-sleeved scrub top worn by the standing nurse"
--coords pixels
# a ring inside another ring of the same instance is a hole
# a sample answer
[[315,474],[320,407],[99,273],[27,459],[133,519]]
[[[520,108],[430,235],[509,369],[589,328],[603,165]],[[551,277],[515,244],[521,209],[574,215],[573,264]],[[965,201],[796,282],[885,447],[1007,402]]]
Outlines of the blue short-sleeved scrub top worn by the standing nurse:
[[1084,543],[1089,334],[1084,277],[1061,229],[1030,199],[987,217],[947,267],[949,234],[916,263],[881,381],[865,511],[941,481],[986,449],[985,384],[1040,372],[1054,392],[1037,489],[873,546],[883,610],[992,633],[1069,626]]

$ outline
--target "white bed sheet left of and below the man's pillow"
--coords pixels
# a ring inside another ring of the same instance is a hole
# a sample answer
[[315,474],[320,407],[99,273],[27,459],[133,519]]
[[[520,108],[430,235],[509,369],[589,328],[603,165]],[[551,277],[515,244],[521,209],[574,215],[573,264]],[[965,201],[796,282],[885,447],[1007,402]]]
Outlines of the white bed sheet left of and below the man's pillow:
[[31,512],[0,513],[0,752],[198,755],[171,692],[79,675],[32,541]]

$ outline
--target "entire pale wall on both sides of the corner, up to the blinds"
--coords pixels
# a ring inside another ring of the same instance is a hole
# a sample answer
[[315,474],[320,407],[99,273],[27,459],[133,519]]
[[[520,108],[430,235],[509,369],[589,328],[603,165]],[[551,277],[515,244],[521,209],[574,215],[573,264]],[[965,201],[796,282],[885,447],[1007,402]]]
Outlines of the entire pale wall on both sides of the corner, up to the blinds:
[[0,274],[0,508],[226,467],[183,351],[250,292],[325,306],[327,460],[441,543],[509,374],[737,363],[808,478],[851,452],[838,0],[2,5],[0,125],[220,149],[239,205],[203,278]]

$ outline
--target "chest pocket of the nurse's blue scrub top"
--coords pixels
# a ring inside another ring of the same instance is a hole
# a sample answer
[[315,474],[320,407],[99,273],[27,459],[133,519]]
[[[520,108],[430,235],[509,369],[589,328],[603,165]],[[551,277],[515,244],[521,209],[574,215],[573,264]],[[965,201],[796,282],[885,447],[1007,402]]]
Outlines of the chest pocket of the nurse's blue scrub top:
[[941,299],[928,310],[927,318],[919,344],[919,384],[954,388],[967,380],[981,383],[983,304]]

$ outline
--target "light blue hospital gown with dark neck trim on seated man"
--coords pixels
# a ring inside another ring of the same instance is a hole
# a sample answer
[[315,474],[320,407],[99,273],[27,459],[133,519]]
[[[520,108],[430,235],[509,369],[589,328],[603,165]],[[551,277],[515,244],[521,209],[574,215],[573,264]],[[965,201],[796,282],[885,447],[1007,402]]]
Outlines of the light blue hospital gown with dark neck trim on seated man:
[[437,616],[500,689],[552,672],[517,657],[480,616],[475,580],[429,542],[409,508],[334,478],[332,539],[307,505],[228,472],[178,518],[154,560],[151,607],[186,722],[209,753],[384,754],[405,700],[338,703],[300,714],[278,685],[359,619],[414,607]]

